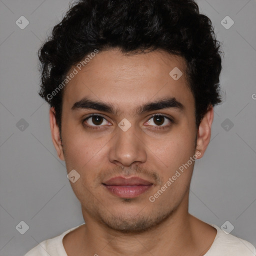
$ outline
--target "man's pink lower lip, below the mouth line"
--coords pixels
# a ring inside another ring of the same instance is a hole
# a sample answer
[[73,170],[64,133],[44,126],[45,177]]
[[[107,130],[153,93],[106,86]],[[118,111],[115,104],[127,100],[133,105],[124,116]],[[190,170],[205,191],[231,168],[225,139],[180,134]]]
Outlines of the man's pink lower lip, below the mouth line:
[[117,195],[122,198],[134,198],[146,190],[148,190],[151,185],[104,185],[108,191],[112,194]]

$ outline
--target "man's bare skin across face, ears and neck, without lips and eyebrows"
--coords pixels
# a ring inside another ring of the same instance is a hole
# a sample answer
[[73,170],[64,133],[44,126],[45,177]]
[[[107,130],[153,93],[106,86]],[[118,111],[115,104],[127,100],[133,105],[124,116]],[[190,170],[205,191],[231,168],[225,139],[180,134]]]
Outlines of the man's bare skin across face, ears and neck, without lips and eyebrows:
[[[174,67],[183,72],[176,81],[169,75]],[[196,152],[197,158],[202,157],[210,140],[213,109],[208,108],[197,129],[185,67],[182,57],[160,50],[129,56],[118,49],[99,52],[64,88],[62,143],[54,108],[50,108],[51,135],[58,156],[65,161],[67,172],[75,169],[80,174],[70,184],[81,203],[85,224],[63,238],[68,256],[198,256],[213,242],[216,229],[188,213],[194,161],[154,202],[149,201],[179,166]],[[118,114],[72,110],[72,105],[85,96],[113,105]],[[166,96],[175,97],[184,109],[134,114],[137,106]],[[92,113],[103,116],[100,129],[84,125],[96,127],[93,118],[83,122]],[[162,117],[162,124],[158,124],[152,117],[155,113],[174,122]],[[118,126],[123,118],[131,124],[126,131]],[[139,176],[153,185],[135,198],[120,198],[102,185],[119,175]]]

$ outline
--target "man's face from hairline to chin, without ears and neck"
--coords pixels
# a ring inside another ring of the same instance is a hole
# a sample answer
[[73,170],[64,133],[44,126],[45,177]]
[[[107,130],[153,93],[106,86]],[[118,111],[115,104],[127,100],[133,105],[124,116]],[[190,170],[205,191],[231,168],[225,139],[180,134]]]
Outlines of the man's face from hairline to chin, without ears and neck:
[[[169,75],[174,67],[183,72],[178,80]],[[187,210],[182,202],[188,195],[194,164],[189,159],[196,153],[197,130],[194,98],[184,70],[183,58],[165,52],[125,56],[114,49],[96,54],[66,85],[63,159],[67,172],[75,169],[80,174],[71,186],[85,222],[94,219],[115,230],[139,232],[160,223],[178,207]],[[85,97],[118,111],[76,103]],[[175,98],[183,108],[177,103],[137,114],[139,106],[167,98]],[[84,120],[92,113],[97,116]],[[189,166],[183,165],[181,172],[179,167],[187,162]],[[180,175],[173,180],[176,170]],[[108,182],[120,176],[140,177],[147,183],[118,187]],[[162,192],[154,196],[158,190]]]

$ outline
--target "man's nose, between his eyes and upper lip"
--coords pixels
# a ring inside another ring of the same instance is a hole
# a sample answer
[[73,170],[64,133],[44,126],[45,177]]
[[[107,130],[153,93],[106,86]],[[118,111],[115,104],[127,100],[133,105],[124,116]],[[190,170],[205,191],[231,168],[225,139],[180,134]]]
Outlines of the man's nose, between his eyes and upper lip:
[[109,161],[117,165],[130,166],[146,161],[146,145],[142,134],[134,125],[123,131],[119,127],[117,133],[110,141]]

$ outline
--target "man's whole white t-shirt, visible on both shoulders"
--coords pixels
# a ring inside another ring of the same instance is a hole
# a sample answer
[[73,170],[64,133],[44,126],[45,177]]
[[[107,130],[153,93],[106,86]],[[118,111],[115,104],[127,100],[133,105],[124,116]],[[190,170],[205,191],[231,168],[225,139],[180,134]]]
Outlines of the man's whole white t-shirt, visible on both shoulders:
[[[204,254],[204,256],[256,256],[256,249],[250,242],[232,234],[226,234],[215,224],[208,224],[217,229],[217,234],[209,250]],[[65,234],[78,226],[70,228],[51,239],[40,242],[24,256],[67,256],[62,239]]]

